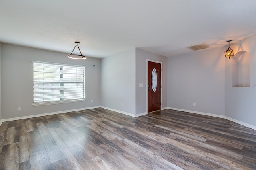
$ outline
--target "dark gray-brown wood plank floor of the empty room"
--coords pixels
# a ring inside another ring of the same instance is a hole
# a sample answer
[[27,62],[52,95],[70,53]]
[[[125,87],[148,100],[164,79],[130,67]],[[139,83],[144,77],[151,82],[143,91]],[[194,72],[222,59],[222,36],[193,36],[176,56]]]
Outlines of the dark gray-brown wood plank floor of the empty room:
[[1,170],[256,169],[256,130],[169,109],[134,118],[98,108],[0,128]]

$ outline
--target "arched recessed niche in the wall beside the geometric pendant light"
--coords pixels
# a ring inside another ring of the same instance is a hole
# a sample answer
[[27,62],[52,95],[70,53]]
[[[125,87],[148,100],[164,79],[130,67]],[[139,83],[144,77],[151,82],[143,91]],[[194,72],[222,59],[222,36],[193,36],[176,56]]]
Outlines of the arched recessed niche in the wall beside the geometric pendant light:
[[250,54],[246,51],[232,57],[232,86],[250,87]]

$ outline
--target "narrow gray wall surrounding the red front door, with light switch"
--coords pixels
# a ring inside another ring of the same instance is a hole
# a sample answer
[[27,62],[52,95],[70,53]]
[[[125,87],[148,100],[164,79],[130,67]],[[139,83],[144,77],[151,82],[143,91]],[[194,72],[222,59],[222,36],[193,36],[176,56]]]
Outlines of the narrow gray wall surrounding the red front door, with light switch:
[[167,107],[167,57],[136,48],[136,115],[147,111],[147,59],[162,62],[162,108]]

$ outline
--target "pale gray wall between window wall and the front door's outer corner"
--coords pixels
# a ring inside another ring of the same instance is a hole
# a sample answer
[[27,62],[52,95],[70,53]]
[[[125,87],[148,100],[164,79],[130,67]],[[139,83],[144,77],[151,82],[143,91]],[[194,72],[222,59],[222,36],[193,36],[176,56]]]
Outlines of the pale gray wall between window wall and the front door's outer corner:
[[135,115],[135,76],[135,48],[103,58],[102,106]]

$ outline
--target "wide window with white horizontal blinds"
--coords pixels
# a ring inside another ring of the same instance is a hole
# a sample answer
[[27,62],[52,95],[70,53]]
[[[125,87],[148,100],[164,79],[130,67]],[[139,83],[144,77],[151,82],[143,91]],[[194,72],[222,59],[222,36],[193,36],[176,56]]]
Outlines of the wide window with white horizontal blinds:
[[85,100],[85,67],[33,61],[33,105]]

